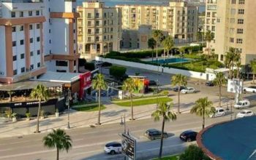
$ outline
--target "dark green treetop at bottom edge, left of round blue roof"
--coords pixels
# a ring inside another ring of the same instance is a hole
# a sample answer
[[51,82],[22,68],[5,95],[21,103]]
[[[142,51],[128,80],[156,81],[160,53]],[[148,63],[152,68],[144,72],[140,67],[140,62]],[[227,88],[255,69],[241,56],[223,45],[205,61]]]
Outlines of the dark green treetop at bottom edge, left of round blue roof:
[[197,145],[189,145],[179,157],[180,160],[211,160]]

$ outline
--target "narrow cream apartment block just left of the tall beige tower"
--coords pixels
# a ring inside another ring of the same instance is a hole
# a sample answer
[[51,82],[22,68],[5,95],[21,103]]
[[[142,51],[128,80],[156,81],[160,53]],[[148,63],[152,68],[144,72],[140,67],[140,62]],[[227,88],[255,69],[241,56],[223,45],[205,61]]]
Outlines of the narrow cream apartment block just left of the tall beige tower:
[[[205,32],[211,31],[216,33],[216,21],[217,21],[217,0],[206,0],[206,16],[205,16]],[[208,43],[208,42],[207,42]],[[208,46],[208,44],[207,44]],[[215,37],[210,43],[211,49],[215,48]]]

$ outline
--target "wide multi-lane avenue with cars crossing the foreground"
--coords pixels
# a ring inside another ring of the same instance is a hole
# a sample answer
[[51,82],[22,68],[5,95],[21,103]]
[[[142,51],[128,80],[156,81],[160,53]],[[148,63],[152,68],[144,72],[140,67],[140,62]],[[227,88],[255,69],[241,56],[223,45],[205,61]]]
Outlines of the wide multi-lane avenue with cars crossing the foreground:
[[[206,119],[206,124],[229,120],[230,116],[215,119]],[[159,140],[148,140],[143,136],[146,129],[161,128],[161,122],[153,119],[143,119],[127,122],[129,133],[137,139],[138,159],[150,159],[159,153]],[[201,118],[191,114],[178,115],[176,121],[167,122],[165,131],[170,137],[164,140],[163,154],[181,153],[190,143],[184,143],[178,139],[178,135],[187,129],[201,129]],[[78,128],[67,130],[72,137],[72,150],[69,153],[61,152],[61,159],[123,159],[121,154],[110,156],[103,153],[105,143],[120,141],[124,126],[120,124],[109,124],[105,126],[90,128]],[[56,159],[56,151],[43,147],[42,137],[46,134],[26,135],[23,137],[11,137],[0,139],[0,160],[2,159]],[[194,142],[195,143],[195,142]]]

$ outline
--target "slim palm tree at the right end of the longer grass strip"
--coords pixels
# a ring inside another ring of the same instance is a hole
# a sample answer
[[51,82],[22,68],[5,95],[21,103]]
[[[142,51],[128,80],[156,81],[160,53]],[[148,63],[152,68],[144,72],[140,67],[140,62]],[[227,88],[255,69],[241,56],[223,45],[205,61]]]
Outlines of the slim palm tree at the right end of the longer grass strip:
[[172,86],[178,85],[178,113],[180,112],[180,95],[181,95],[181,86],[187,85],[187,76],[182,76],[181,74],[176,74],[171,79]]

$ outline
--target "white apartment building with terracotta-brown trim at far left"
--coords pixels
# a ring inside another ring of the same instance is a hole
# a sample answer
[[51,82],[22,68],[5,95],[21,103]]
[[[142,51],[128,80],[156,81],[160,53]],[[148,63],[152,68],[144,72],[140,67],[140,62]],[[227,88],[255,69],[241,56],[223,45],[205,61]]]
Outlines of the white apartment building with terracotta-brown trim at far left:
[[0,1],[0,82],[78,71],[75,1]]

